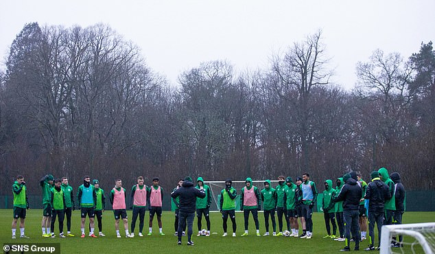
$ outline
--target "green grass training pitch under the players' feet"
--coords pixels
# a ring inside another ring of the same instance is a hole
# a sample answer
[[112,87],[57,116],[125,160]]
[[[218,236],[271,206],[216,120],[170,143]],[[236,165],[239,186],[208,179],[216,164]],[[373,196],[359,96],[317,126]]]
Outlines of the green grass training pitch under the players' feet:
[[[122,238],[116,238],[115,233],[115,219],[113,218],[113,211],[105,211],[103,217],[103,232],[106,237],[99,238],[80,238],[80,213],[73,211],[73,218],[71,219],[72,233],[75,237],[69,238],[43,238],[40,227],[42,218],[42,210],[30,209],[27,210],[27,218],[25,220],[25,234],[30,236],[31,239],[23,240],[17,238],[11,239],[11,223],[12,223],[12,209],[0,209],[0,216],[3,220],[0,221],[1,231],[0,238],[3,243],[60,243],[60,251],[62,253],[281,253],[292,251],[308,251],[307,253],[338,253],[344,246],[344,242],[337,242],[331,239],[324,239],[322,236],[326,235],[325,222],[322,213],[314,213],[314,235],[310,240],[299,238],[285,238],[282,236],[261,236],[255,235],[255,224],[250,216],[249,233],[246,237],[241,237],[244,233],[244,219],[242,213],[236,213],[237,220],[237,237],[231,237],[232,227],[231,220],[228,220],[228,236],[222,237],[222,218],[220,213],[211,213],[211,236],[197,237],[196,233],[196,219],[193,222],[193,237],[195,246],[187,246],[187,237],[183,237],[183,244],[177,245],[177,238],[174,236],[174,213],[165,211],[163,212],[163,232],[165,235],[158,235],[158,226],[156,218],[154,218],[153,235],[139,237],[139,220],[137,221],[135,237],[125,238],[124,227],[121,225]],[[131,211],[128,211],[128,220],[130,224]],[[145,214],[145,227],[143,232],[148,233],[148,211]],[[417,223],[417,222],[433,222],[435,219],[435,212],[406,212],[403,215],[403,223]],[[89,222],[86,219],[86,223]],[[260,233],[263,235],[264,219],[263,213],[259,213]],[[202,219],[202,227],[205,228],[205,220]],[[95,225],[96,226],[96,225]],[[58,224],[56,222],[55,232],[58,234]],[[129,227],[130,229],[130,227]],[[272,231],[272,225],[270,225]],[[64,222],[64,232],[67,231],[66,220]],[[86,229],[86,235],[88,234]],[[17,229],[19,235],[19,229]],[[368,235],[368,233],[367,233]],[[407,240],[408,238],[405,238]],[[360,244],[361,249],[365,249],[368,245],[368,240],[364,240]],[[351,249],[354,244],[351,243]],[[409,248],[409,247],[408,247]],[[405,249],[408,253],[410,249]],[[422,253],[421,249],[417,251]]]

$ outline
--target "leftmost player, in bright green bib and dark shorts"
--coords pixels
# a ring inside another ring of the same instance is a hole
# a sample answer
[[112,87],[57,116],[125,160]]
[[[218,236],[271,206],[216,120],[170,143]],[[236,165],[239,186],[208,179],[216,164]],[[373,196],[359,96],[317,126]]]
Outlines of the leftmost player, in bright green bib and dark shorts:
[[24,176],[19,174],[12,185],[14,194],[14,219],[12,220],[12,239],[15,239],[16,223],[20,218],[20,238],[29,238],[24,234],[24,222],[26,210],[29,209],[29,199],[27,198],[27,187],[25,187]]

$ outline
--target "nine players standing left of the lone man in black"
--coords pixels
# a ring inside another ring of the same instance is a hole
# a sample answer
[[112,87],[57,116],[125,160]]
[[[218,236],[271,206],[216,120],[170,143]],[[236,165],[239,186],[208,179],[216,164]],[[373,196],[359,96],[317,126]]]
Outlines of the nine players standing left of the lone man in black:
[[[121,179],[115,180],[115,187],[110,190],[109,200],[113,208],[115,216],[115,230],[117,238],[121,238],[119,233],[119,222],[122,219],[126,238],[134,238],[134,228],[137,218],[139,217],[139,236],[143,236],[143,224],[145,217],[145,209],[150,211],[148,235],[152,235],[152,222],[154,215],[157,216],[158,228],[160,235],[165,235],[162,231],[162,203],[163,203],[163,188],[158,185],[158,177],[152,179],[152,186],[145,186],[143,176],[137,178],[137,184],[133,185],[130,196],[130,209],[132,209],[131,233],[128,231],[127,219],[127,192],[122,187]],[[68,184],[68,178],[62,177],[54,179],[54,176],[47,174],[40,179],[40,187],[43,192],[43,220],[41,222],[43,237],[56,238],[54,233],[54,225],[58,220],[58,236],[65,238],[66,236],[74,236],[71,233],[71,212],[75,210],[75,199],[73,196],[73,188]],[[26,209],[29,209],[27,198],[27,188],[25,187],[24,177],[16,176],[16,181],[12,185],[14,194],[14,219],[12,220],[12,239],[16,238],[16,224],[20,219],[20,238],[29,238],[24,233]],[[99,181],[94,179],[91,183],[89,176],[84,176],[83,184],[78,187],[77,192],[78,209],[81,216],[81,237],[85,237],[85,222],[86,217],[89,218],[89,237],[97,238],[105,236],[102,232],[102,217],[106,207],[106,195],[104,190],[99,187]],[[63,231],[64,218],[67,218],[67,233]],[[94,218],[97,217],[99,232],[94,232]]]

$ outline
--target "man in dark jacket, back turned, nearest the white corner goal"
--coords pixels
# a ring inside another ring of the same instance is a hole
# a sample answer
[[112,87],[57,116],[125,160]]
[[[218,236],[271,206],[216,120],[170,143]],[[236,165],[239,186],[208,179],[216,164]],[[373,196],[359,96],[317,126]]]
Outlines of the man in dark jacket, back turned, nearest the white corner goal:
[[[391,198],[386,185],[381,178],[379,172],[371,172],[371,183],[368,183],[366,189],[365,200],[368,200],[368,238],[370,245],[366,251],[375,251],[375,223],[377,225],[377,240],[381,243],[381,228],[384,224],[384,203],[386,199]],[[378,247],[379,248],[379,247]]]

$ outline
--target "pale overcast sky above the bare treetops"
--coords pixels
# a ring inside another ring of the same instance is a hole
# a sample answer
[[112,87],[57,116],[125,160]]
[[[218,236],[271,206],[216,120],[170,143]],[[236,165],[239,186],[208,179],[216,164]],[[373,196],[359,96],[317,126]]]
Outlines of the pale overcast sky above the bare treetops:
[[375,49],[403,58],[435,40],[434,0],[3,0],[0,69],[25,23],[110,25],[139,45],[148,67],[177,84],[200,62],[228,60],[236,71],[266,69],[270,56],[322,30],[333,81],[351,89],[355,64]]

